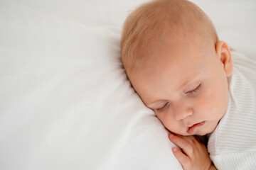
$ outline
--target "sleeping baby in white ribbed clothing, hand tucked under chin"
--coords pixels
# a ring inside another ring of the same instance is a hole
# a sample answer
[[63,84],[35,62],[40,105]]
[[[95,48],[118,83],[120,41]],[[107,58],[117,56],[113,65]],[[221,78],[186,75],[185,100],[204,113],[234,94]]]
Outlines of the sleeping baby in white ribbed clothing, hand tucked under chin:
[[[232,57],[201,8],[142,4],[124,23],[121,53],[134,90],[180,148],[173,152],[183,169],[256,169],[256,62]],[[207,134],[208,149],[194,136]]]

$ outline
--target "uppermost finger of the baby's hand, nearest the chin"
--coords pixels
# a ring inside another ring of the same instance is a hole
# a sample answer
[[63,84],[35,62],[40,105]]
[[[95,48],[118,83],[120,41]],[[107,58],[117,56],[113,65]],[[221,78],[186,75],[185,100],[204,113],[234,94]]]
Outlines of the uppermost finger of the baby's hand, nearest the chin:
[[178,137],[174,134],[169,135],[169,139],[171,142],[174,142],[178,147],[180,147],[183,152],[188,155],[188,157],[191,157],[193,154],[193,146],[191,145],[190,142],[187,140],[183,139],[183,137]]

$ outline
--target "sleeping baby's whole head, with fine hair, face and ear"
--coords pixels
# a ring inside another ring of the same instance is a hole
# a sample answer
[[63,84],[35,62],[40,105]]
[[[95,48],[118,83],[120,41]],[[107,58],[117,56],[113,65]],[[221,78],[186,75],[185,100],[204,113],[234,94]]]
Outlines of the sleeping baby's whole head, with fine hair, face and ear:
[[233,64],[198,6],[183,0],[139,6],[124,23],[121,53],[135,91],[168,130],[213,132],[228,106]]

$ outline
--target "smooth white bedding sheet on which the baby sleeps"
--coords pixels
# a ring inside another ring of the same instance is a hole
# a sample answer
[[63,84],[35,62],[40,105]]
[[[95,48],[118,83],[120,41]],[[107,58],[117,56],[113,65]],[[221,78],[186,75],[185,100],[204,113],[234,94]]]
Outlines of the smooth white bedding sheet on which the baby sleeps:
[[[221,40],[256,55],[256,2],[194,1]],[[122,69],[142,0],[0,1],[0,169],[182,169]]]

